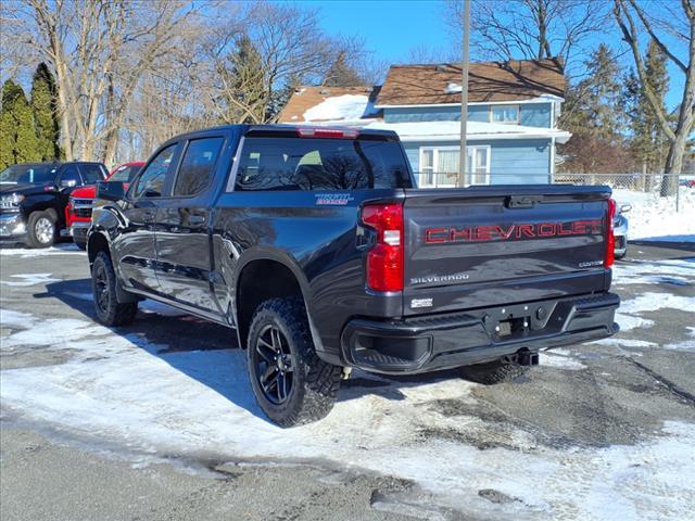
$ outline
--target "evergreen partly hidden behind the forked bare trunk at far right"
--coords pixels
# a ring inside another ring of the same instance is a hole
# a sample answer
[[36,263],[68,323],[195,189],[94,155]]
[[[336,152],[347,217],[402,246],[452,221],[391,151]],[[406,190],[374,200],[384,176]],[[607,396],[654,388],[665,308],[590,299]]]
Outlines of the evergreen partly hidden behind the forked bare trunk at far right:
[[[666,112],[665,97],[669,89],[666,55],[654,40],[649,43],[644,62],[649,87],[660,100]],[[646,165],[647,171],[659,173],[666,161],[668,138],[664,134],[634,72],[630,72],[624,84],[624,104],[632,134],[631,149],[639,163]]]

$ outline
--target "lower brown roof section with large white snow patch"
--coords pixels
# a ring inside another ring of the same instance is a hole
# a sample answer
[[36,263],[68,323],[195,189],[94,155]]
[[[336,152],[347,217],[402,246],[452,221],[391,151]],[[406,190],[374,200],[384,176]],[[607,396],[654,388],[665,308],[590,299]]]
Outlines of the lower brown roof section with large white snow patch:
[[299,87],[280,112],[279,123],[348,122],[376,116],[379,87]]

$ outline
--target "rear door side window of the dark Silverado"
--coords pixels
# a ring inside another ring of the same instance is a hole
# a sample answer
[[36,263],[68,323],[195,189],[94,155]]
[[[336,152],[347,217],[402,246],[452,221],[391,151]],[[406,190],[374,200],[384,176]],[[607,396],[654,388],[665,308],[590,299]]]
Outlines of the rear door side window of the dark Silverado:
[[223,141],[223,138],[204,138],[188,143],[176,178],[174,195],[194,195],[210,186]]

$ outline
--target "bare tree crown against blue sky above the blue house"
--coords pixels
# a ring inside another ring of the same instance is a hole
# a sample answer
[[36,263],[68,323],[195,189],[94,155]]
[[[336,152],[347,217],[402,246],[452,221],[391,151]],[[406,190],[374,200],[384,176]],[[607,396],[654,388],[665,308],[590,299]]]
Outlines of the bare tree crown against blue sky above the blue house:
[[[447,5],[447,20],[460,35],[462,2],[450,0]],[[471,45],[481,58],[559,58],[569,68],[591,37],[606,27],[608,14],[603,2],[586,0],[477,0],[471,8]]]

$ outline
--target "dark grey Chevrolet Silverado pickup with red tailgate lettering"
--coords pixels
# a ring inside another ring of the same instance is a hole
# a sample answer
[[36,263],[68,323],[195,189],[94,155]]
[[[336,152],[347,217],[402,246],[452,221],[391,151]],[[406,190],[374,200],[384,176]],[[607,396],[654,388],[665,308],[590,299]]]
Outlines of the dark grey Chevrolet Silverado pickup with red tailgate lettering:
[[618,330],[608,188],[418,190],[393,132],[198,131],[97,198],[99,320],[149,297],[235,328],[280,425],[327,415],[352,368],[493,383]]

